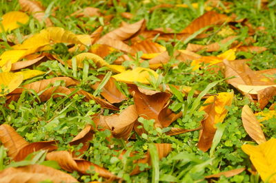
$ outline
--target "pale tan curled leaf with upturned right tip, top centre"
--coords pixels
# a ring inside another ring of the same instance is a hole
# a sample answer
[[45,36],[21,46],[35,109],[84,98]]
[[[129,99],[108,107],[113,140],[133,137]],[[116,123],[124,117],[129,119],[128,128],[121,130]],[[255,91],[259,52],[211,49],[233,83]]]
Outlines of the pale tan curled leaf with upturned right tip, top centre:
[[108,32],[108,34],[102,36],[99,41],[97,41],[97,43],[105,43],[110,39],[125,41],[126,39],[129,39],[131,36],[137,33],[142,28],[144,22],[145,20],[142,19],[141,21],[137,21],[136,23],[128,24],[111,32]]

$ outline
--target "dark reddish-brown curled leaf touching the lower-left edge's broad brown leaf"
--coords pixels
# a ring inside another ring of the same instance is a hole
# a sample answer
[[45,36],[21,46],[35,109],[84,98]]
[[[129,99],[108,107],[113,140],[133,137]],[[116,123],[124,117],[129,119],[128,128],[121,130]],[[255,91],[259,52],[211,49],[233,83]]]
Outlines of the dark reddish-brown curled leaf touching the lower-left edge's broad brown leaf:
[[50,140],[50,141],[43,141],[43,142],[32,142],[25,147],[22,147],[17,155],[14,157],[14,161],[19,162],[24,160],[30,153],[39,150],[47,150],[47,151],[54,151],[57,150],[57,141]]

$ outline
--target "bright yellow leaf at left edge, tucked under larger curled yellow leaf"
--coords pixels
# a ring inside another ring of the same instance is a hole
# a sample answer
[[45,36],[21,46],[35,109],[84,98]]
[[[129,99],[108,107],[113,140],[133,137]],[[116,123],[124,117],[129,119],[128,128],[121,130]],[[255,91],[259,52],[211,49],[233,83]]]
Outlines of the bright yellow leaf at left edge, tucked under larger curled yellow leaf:
[[8,61],[16,63],[19,59],[26,55],[26,50],[8,50],[3,52],[0,56],[0,67],[3,67],[3,65],[5,65]]

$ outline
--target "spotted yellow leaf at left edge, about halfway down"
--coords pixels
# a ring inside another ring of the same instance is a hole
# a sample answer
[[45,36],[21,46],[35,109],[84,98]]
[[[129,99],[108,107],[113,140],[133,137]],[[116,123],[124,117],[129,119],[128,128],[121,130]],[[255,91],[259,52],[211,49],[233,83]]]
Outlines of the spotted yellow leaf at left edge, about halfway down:
[[23,76],[12,72],[0,73],[0,96],[4,96],[17,89],[23,81]]

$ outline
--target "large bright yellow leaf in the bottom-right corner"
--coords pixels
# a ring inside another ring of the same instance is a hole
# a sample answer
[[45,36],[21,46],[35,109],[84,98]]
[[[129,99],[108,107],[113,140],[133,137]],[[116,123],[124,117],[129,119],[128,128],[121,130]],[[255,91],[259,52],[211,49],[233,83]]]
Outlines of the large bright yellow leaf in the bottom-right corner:
[[[276,182],[276,139],[253,146],[242,145],[242,150],[249,155],[251,162],[264,182]],[[274,175],[273,175],[274,174]],[[269,180],[268,180],[269,179]]]

